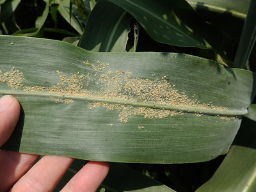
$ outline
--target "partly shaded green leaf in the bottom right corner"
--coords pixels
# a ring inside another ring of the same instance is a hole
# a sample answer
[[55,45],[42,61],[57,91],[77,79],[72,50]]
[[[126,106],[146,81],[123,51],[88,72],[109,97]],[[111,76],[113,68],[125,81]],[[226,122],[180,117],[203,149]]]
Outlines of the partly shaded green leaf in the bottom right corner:
[[243,123],[223,163],[212,178],[197,191],[255,191],[256,122]]

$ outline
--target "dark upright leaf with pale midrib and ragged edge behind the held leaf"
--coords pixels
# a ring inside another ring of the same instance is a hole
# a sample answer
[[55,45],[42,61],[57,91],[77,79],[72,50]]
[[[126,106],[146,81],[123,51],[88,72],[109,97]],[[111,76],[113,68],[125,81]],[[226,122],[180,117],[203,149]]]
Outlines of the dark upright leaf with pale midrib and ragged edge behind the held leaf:
[[116,4],[99,1],[90,14],[79,47],[89,51],[125,52],[131,19],[131,15]]

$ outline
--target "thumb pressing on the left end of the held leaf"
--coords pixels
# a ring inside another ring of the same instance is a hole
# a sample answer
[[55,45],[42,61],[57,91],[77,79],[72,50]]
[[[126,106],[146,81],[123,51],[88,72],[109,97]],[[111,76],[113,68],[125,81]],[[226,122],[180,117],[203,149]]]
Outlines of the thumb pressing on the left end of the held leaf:
[[20,115],[20,104],[11,95],[4,95],[0,99],[0,146],[11,136]]

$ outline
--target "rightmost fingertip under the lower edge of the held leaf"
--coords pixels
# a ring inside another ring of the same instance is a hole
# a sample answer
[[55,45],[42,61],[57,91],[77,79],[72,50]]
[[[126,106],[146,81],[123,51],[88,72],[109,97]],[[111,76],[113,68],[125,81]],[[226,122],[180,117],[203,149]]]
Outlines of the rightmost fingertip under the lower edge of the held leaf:
[[90,161],[61,190],[65,191],[96,191],[108,175],[109,164]]

